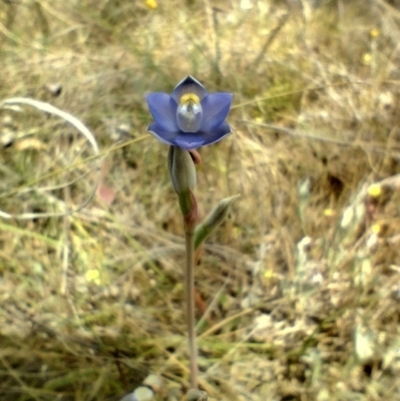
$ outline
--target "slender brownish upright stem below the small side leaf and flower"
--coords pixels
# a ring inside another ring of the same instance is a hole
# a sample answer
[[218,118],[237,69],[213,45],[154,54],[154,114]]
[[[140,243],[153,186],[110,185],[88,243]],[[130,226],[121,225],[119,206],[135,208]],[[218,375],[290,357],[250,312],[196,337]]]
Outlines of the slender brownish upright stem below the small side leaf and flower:
[[190,385],[192,388],[196,389],[198,380],[198,367],[194,303],[194,227],[191,227],[190,224],[185,224],[185,245],[186,320],[189,337]]

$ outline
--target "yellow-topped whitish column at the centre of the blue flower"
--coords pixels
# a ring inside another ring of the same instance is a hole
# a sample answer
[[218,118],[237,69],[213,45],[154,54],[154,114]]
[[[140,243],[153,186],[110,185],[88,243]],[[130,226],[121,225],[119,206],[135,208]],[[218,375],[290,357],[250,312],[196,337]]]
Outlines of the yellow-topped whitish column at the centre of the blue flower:
[[197,132],[203,119],[200,98],[194,93],[186,93],[179,100],[176,110],[178,127],[183,132]]

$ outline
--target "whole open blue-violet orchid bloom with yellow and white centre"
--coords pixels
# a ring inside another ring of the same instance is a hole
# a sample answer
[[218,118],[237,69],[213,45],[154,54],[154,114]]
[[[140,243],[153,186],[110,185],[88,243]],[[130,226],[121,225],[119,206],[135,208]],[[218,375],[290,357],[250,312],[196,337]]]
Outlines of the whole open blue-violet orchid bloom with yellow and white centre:
[[232,99],[232,93],[208,94],[200,82],[187,76],[171,95],[146,96],[154,118],[147,131],[163,143],[186,150],[218,142],[231,132],[225,119]]

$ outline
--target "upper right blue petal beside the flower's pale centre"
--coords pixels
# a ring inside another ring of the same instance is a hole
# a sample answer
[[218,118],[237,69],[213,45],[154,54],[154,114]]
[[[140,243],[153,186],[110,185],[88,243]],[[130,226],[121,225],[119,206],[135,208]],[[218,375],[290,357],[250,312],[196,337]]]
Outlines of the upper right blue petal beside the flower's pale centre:
[[231,93],[212,93],[202,101],[203,122],[201,131],[213,131],[217,129],[229,114],[233,95]]

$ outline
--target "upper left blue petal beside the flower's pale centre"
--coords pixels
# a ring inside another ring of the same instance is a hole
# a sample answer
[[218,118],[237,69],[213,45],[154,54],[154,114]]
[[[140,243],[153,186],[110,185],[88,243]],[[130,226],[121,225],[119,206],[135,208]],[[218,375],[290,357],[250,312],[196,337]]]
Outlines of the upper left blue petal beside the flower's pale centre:
[[166,93],[150,93],[146,96],[150,113],[155,122],[166,131],[177,131],[176,109],[178,105]]

